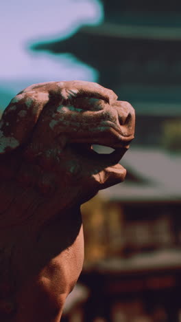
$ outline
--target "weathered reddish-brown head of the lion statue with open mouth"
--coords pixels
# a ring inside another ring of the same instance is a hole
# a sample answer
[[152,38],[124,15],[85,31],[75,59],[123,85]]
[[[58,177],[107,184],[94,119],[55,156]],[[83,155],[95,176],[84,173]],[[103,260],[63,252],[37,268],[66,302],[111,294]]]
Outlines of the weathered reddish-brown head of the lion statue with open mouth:
[[[134,109],[97,83],[61,81],[24,89],[0,122],[0,188],[6,196],[0,227],[34,213],[41,222],[122,182],[126,171],[119,160],[133,138]],[[93,144],[114,151],[99,154]]]

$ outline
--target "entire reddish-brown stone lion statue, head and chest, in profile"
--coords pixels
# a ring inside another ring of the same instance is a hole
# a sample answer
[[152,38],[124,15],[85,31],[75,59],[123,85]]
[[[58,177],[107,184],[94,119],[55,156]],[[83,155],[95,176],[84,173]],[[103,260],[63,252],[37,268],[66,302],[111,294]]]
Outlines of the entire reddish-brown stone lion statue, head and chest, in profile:
[[0,122],[0,321],[60,321],[84,260],[80,205],[124,180],[133,138],[134,109],[97,83],[40,83],[11,100]]

